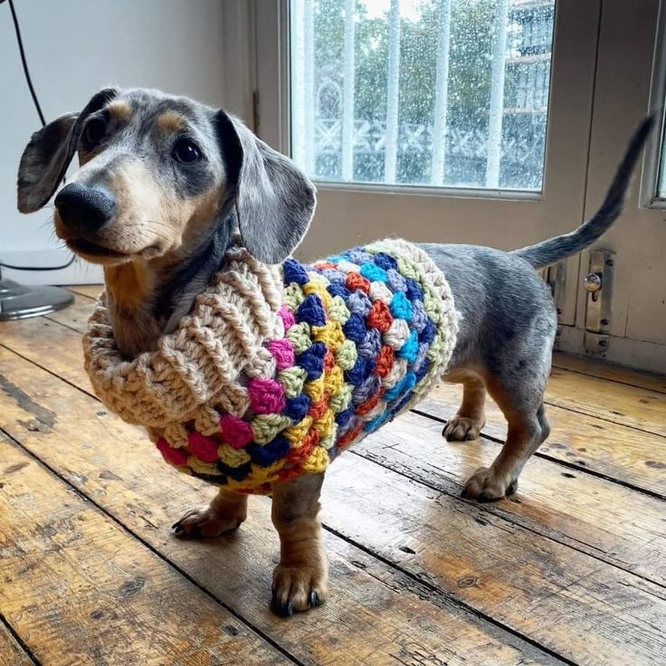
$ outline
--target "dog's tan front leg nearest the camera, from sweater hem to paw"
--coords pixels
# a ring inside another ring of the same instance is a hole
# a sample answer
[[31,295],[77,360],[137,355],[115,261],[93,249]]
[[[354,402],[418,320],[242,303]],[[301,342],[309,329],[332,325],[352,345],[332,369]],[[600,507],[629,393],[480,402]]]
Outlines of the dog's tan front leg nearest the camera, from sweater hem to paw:
[[291,615],[322,604],[327,595],[328,562],[319,523],[323,474],[304,474],[273,485],[272,521],[280,534],[280,564],[273,573],[272,604]]

